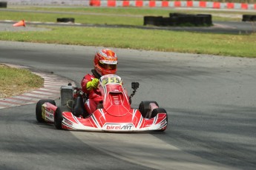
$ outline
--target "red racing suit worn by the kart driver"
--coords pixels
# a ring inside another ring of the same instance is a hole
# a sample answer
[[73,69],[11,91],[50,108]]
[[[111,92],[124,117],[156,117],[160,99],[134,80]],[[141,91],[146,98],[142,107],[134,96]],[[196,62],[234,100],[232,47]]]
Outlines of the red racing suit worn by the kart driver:
[[98,88],[92,88],[91,90],[88,90],[86,87],[88,82],[92,81],[93,78],[100,78],[100,75],[96,72],[95,69],[92,69],[91,72],[93,74],[85,75],[85,77],[82,78],[81,81],[82,92],[85,92],[88,97],[87,101],[85,102],[85,110],[88,112],[88,114],[93,113],[99,103],[102,102],[102,95]]

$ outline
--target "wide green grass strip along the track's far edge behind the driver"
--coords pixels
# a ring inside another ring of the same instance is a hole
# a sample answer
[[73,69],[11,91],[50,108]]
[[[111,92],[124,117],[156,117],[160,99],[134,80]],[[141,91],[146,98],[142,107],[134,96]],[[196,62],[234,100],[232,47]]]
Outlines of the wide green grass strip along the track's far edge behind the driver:
[[0,32],[1,40],[30,41],[53,44],[75,44],[231,55],[255,58],[256,35],[188,33],[169,30],[142,30],[98,27],[48,27],[44,32]]

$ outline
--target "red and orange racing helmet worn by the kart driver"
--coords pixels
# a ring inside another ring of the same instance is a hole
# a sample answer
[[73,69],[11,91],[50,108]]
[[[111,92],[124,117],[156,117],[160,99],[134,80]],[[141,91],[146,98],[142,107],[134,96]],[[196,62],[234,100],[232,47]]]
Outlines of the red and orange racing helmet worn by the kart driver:
[[116,74],[116,53],[109,49],[102,49],[94,56],[94,69],[99,75]]

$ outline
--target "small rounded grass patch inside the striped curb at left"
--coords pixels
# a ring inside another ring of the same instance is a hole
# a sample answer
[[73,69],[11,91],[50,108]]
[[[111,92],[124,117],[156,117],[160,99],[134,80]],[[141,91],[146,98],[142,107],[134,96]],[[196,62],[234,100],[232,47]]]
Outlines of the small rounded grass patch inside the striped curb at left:
[[27,69],[17,69],[0,64],[0,98],[19,95],[42,87],[44,80]]

